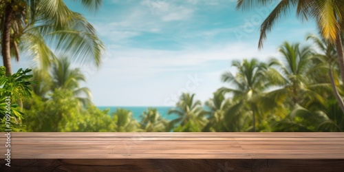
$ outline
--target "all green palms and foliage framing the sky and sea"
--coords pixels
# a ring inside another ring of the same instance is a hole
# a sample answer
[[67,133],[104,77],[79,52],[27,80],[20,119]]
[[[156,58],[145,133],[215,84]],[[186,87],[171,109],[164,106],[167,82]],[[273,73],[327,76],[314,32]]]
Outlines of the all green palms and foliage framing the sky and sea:
[[[79,2],[97,10],[103,1]],[[269,3],[238,0],[237,8]],[[0,1],[0,131],[8,128],[7,114],[13,131],[344,131],[344,3],[281,1],[261,25],[259,47],[290,9],[316,21],[320,37],[307,36],[312,46],[285,42],[269,61],[232,61],[237,73],[219,76],[228,87],[205,103],[184,93],[169,111],[178,118],[166,120],[149,108],[137,121],[127,109],[110,115],[98,109],[90,90],[80,87],[86,78],[70,61],[99,67],[104,50],[81,14],[63,1]],[[21,53],[37,65],[32,74],[21,69],[12,75],[10,58],[19,61]]]

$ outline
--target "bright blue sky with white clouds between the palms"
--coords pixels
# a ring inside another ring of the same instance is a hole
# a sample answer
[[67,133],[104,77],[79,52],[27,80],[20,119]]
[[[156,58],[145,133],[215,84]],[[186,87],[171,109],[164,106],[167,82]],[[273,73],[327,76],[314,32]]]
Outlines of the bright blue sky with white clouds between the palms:
[[[263,50],[259,25],[270,8],[235,10],[235,0],[105,0],[98,12],[67,6],[91,22],[106,46],[103,65],[74,65],[87,76],[97,106],[173,106],[181,92],[204,102],[219,87],[235,59],[278,57],[283,41],[305,43],[314,22],[293,12],[279,21]],[[14,70],[30,59],[13,61]]]

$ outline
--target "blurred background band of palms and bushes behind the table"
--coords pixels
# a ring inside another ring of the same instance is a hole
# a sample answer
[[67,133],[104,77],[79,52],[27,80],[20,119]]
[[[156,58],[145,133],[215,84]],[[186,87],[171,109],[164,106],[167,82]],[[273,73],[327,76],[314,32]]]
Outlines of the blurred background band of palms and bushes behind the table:
[[[85,77],[58,58],[50,73],[35,69],[33,100],[25,103],[24,131],[344,131],[344,114],[336,95],[344,93],[336,50],[315,35],[313,46],[282,43],[280,56],[232,61],[237,73],[219,76],[228,87],[214,90],[201,103],[184,93],[169,114],[157,109],[132,112],[97,109],[90,92],[79,87]],[[316,51],[317,50],[317,51]],[[206,108],[204,108],[206,107]]]

